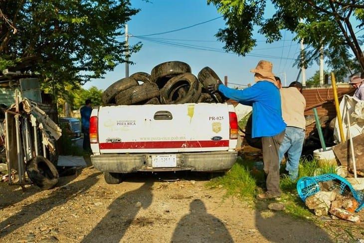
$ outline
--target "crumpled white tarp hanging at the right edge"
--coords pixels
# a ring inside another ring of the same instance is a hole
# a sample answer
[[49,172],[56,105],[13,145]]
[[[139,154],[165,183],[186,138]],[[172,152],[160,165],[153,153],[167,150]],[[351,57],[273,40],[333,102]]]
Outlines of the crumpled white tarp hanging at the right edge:
[[[347,112],[349,111],[350,124],[348,124]],[[349,127],[352,137],[363,133],[364,130],[364,101],[352,96],[344,95],[340,102],[340,113],[343,120],[345,139],[349,139]],[[338,119],[335,122],[334,138],[336,143],[341,143]]]

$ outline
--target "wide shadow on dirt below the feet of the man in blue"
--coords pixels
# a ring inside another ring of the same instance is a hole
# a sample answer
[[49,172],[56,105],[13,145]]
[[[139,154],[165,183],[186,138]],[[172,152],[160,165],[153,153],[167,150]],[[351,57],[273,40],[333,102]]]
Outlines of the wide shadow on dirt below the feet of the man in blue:
[[[259,204],[259,208],[267,207]],[[269,242],[333,242],[330,236],[313,222],[293,219],[281,212],[255,209],[255,225]]]

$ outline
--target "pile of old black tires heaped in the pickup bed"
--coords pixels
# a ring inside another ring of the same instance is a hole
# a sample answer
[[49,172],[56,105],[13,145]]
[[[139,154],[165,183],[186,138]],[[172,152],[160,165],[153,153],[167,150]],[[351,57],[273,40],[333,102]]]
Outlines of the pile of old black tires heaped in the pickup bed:
[[216,73],[204,67],[198,78],[181,61],[161,63],[151,74],[137,72],[110,85],[103,93],[105,105],[222,103],[219,93],[209,93],[207,86],[221,82]]

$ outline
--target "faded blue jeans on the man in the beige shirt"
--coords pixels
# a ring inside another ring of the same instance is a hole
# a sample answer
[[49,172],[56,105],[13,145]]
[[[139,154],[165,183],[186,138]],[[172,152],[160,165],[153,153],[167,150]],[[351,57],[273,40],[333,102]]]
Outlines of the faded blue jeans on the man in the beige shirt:
[[293,181],[297,180],[298,177],[298,166],[304,140],[305,130],[297,127],[286,127],[283,142],[279,147],[279,163],[281,163],[284,154],[287,153],[286,171]]

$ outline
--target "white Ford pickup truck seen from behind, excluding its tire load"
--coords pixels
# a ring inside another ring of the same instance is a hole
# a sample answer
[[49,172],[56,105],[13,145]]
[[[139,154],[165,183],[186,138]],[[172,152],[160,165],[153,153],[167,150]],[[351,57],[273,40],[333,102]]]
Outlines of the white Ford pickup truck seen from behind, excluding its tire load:
[[90,119],[91,161],[109,184],[138,171],[227,171],[237,138],[229,104],[106,106]]

